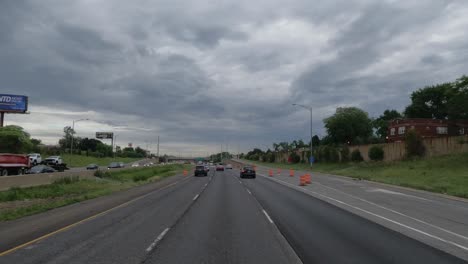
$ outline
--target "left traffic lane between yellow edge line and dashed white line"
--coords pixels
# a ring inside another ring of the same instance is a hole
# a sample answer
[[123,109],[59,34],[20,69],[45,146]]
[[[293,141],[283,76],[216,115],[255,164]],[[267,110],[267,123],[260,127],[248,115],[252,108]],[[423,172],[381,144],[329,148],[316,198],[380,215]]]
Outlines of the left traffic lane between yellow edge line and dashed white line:
[[146,249],[193,203],[210,177],[190,177],[164,190],[50,236],[2,263],[140,263]]

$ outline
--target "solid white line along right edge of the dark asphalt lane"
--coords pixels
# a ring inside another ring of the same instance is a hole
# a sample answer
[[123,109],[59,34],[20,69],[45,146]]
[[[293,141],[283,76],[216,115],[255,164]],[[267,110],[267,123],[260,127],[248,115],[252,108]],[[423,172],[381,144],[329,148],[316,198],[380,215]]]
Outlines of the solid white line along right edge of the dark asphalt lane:
[[[262,174],[259,174],[259,175],[262,176],[262,177],[264,177],[264,178],[271,179],[271,178],[268,178],[268,177],[266,177],[266,176],[264,176],[264,175],[262,175]],[[400,223],[400,222],[397,222],[397,221],[395,221],[395,220],[386,218],[386,217],[384,217],[384,216],[381,216],[381,215],[372,213],[372,212],[367,211],[367,210],[365,210],[365,209],[362,209],[362,208],[359,208],[359,207],[350,205],[350,204],[348,204],[348,203],[345,203],[345,202],[343,202],[343,201],[337,200],[337,199],[335,199],[335,198],[332,198],[332,197],[323,195],[323,194],[318,193],[318,192],[314,192],[314,191],[307,190],[306,188],[301,188],[301,187],[292,185],[292,184],[290,184],[290,183],[288,183],[288,182],[284,182],[284,181],[277,180],[277,179],[272,179],[272,180],[274,180],[274,181],[276,181],[276,182],[281,182],[281,183],[290,185],[290,186],[292,186],[292,187],[294,187],[294,188],[298,188],[298,189],[304,190],[304,191],[306,191],[306,192],[308,192],[308,193],[313,193],[313,194],[315,194],[315,195],[324,197],[324,198],[326,198],[326,199],[328,199],[328,200],[337,202],[337,203],[342,204],[342,205],[346,205],[346,206],[348,206],[348,207],[350,207],[350,208],[353,208],[353,209],[355,209],[355,210],[364,212],[364,213],[366,213],[366,214],[369,214],[369,215],[375,216],[375,217],[377,217],[377,218],[383,219],[383,220],[388,221],[388,222],[390,222],[390,223],[393,223],[393,224],[395,224],[395,225],[399,225],[399,226],[401,226],[401,227],[404,227],[404,228],[407,228],[407,229],[412,230],[412,231],[414,231],[414,232],[423,234],[423,235],[428,236],[428,237],[430,237],[430,238],[433,238],[433,239],[435,239],[435,240],[439,240],[439,241],[442,241],[442,242],[444,242],[444,243],[447,243],[447,244],[450,244],[450,245],[452,245],[452,246],[455,246],[455,247],[458,247],[458,248],[460,248],[460,249],[463,249],[463,250],[465,250],[465,251],[468,251],[468,247],[465,247],[465,246],[462,246],[462,245],[457,244],[457,243],[455,243],[455,242],[452,242],[452,241],[450,241],[450,240],[446,240],[446,239],[443,239],[443,238],[441,238],[441,237],[438,237],[438,236],[429,234],[429,233],[427,233],[427,232],[424,232],[424,231],[419,230],[419,229],[417,229],[417,228],[414,228],[414,227],[411,227],[411,226],[402,224],[402,223]],[[265,213],[266,213],[266,212],[265,212]]]

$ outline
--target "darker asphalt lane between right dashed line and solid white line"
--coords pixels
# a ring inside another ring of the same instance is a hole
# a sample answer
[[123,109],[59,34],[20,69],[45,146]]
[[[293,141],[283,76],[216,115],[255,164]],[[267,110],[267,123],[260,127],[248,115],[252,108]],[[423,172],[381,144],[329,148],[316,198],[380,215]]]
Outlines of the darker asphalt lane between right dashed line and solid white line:
[[242,182],[270,212],[304,263],[465,263],[268,179]]

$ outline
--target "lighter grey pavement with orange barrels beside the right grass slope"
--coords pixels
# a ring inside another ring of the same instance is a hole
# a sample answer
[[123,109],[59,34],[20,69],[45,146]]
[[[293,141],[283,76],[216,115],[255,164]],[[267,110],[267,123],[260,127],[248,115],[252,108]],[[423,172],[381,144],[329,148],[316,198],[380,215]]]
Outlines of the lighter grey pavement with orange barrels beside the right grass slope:
[[[270,170],[266,167],[258,169],[265,175]],[[287,173],[275,173],[274,178],[296,185],[298,177],[291,178]],[[297,171],[296,175],[303,173]],[[312,173],[312,185],[306,188],[363,206],[468,248],[468,203],[462,199],[315,172]],[[468,252],[461,253],[468,258]]]

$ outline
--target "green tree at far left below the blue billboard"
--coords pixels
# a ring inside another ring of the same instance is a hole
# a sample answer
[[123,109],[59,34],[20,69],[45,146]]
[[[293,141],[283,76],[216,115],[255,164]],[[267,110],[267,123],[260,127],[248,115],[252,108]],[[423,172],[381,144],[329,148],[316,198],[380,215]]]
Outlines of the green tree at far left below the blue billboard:
[[19,126],[0,128],[0,152],[25,153],[33,147],[31,136]]

